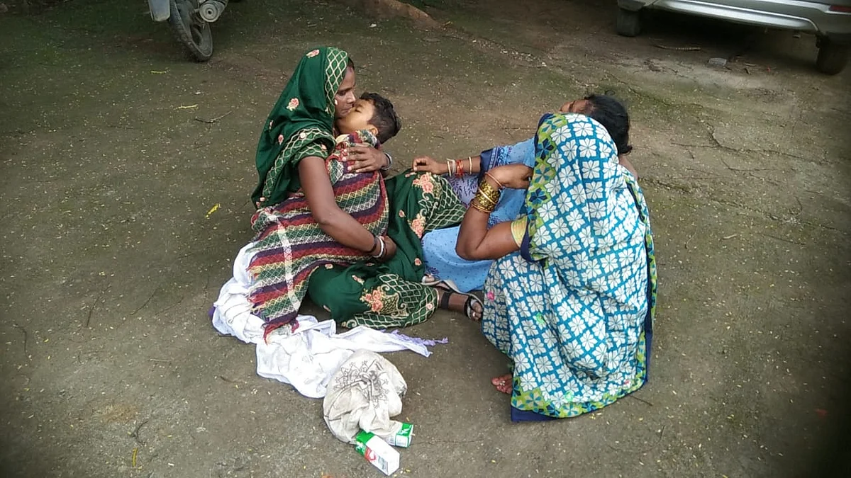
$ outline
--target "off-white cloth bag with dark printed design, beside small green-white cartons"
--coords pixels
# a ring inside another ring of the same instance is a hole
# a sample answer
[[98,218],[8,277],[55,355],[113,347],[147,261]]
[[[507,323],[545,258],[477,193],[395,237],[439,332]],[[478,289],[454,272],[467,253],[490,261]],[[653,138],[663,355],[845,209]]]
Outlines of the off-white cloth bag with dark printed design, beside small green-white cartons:
[[341,441],[354,443],[360,430],[383,439],[396,435],[402,423],[391,417],[402,413],[408,384],[386,358],[357,350],[328,384],[323,415],[328,429]]

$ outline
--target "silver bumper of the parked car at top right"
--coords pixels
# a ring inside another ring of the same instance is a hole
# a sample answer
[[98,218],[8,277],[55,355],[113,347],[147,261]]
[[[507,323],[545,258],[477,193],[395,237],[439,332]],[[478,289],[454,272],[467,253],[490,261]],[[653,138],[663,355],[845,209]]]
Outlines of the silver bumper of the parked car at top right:
[[851,14],[831,12],[827,3],[802,0],[727,0],[723,3],[700,0],[619,0],[620,7],[624,9],[665,9],[747,25],[812,31],[836,39],[851,37]]

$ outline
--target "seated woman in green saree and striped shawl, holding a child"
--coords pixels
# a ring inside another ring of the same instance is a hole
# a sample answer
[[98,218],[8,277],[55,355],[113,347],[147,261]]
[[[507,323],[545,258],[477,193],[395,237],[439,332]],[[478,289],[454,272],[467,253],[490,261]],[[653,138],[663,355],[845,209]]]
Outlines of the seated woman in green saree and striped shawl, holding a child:
[[334,120],[353,110],[354,87],[345,51],[311,50],[266,119],[252,195],[256,236],[241,251],[248,257],[237,257],[248,264],[248,300],[266,333],[297,327],[308,283],[311,299],[345,327],[404,327],[425,321],[438,304],[472,306],[420,284],[421,237],[464,214],[446,180],[415,173],[384,179],[377,143],[358,150],[357,162],[331,154]]

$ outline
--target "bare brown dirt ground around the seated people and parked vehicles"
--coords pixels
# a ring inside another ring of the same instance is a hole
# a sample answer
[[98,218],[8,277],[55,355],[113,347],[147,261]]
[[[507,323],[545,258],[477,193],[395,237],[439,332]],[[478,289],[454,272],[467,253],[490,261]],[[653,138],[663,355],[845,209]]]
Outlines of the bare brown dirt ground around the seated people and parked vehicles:
[[654,221],[642,390],[511,424],[489,384],[505,357],[438,313],[406,333],[448,344],[388,356],[416,431],[399,475],[825,476],[848,430],[851,70],[816,73],[814,39],[792,32],[656,15],[617,37],[613,4],[426,2],[451,23],[419,31],[248,0],[206,65],[140,1],[0,14],[0,475],[380,475],[206,315],[251,236],[260,123],[327,43],[397,105],[399,166],[525,139],[563,100],[614,91]]

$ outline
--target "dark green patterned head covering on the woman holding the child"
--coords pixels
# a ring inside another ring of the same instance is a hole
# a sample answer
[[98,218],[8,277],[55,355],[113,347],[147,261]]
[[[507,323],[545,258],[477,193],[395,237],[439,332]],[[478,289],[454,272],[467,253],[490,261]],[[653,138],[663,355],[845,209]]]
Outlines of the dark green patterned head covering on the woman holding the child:
[[253,202],[282,202],[298,191],[298,164],[306,156],[325,157],[334,148],[334,95],[346,77],[349,55],[322,47],[301,57],[293,76],[272,108],[257,144],[260,182]]

